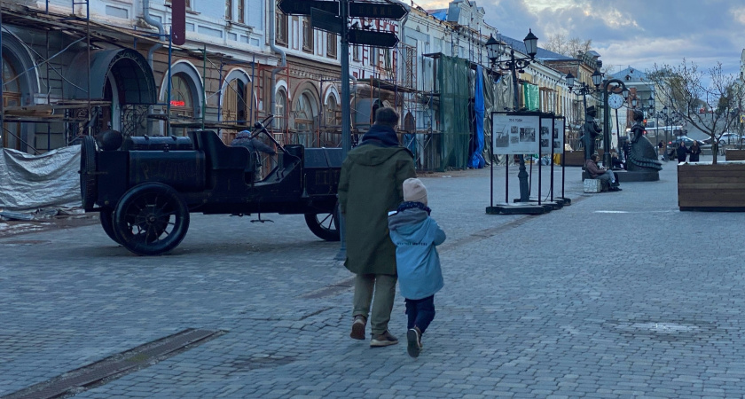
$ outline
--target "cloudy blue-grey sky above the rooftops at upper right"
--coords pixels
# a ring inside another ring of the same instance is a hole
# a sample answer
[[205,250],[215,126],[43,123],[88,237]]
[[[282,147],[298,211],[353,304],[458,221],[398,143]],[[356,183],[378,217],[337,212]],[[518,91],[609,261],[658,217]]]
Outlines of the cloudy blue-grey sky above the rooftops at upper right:
[[[522,39],[528,28],[548,37],[592,39],[603,66],[615,73],[628,66],[644,71],[693,61],[708,70],[721,62],[739,74],[745,48],[745,0],[475,0],[484,20],[503,35]],[[446,0],[415,0],[425,10],[447,8]]]

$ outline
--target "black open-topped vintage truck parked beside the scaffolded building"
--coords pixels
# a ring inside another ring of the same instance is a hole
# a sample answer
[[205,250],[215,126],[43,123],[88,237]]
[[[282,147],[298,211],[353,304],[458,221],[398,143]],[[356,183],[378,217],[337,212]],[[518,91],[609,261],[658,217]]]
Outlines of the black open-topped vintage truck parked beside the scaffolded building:
[[224,145],[216,132],[188,137],[82,137],[81,195],[86,212],[117,243],[139,255],[165,254],[184,239],[189,215],[297,214],[318,238],[339,240],[336,191],[341,148],[280,145],[277,166],[255,177],[255,153]]

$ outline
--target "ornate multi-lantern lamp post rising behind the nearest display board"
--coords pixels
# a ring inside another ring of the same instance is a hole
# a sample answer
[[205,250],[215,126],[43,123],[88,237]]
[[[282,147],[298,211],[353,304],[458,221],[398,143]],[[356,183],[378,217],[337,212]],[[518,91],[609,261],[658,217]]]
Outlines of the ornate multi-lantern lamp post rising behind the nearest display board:
[[[492,68],[498,68],[500,71],[510,71],[513,78],[513,91],[514,91],[514,104],[513,108],[515,111],[520,107],[520,97],[517,91],[517,71],[524,69],[530,65],[530,62],[536,59],[538,38],[533,35],[532,30],[528,30],[528,35],[522,40],[525,43],[525,50],[529,57],[515,58],[514,49],[510,49],[510,58],[500,61],[499,58],[502,54],[506,53],[505,46],[503,43],[498,42],[494,39],[494,36],[490,35],[489,40],[486,42],[486,50],[489,52],[489,59],[491,61]],[[528,172],[525,170],[525,156],[520,155],[520,172],[517,174],[520,180],[520,202],[529,202],[530,192],[528,187]]]

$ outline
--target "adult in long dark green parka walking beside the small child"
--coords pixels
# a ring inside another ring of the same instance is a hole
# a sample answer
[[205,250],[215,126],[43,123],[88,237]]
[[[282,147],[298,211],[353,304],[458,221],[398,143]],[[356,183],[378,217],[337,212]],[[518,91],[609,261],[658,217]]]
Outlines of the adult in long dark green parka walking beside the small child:
[[398,343],[388,331],[397,278],[396,246],[388,234],[388,212],[404,201],[404,181],[416,177],[416,171],[412,153],[398,143],[397,124],[398,114],[393,108],[378,109],[372,127],[342,163],[339,179],[347,242],[344,266],[355,274],[349,336],[365,340],[370,316],[371,347]]

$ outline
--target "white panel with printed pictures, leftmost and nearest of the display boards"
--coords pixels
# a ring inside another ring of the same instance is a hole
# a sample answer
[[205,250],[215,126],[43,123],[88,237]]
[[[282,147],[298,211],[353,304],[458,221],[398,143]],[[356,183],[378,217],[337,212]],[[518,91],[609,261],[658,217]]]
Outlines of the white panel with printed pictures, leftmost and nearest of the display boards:
[[492,113],[492,153],[519,155],[538,152],[539,113]]

